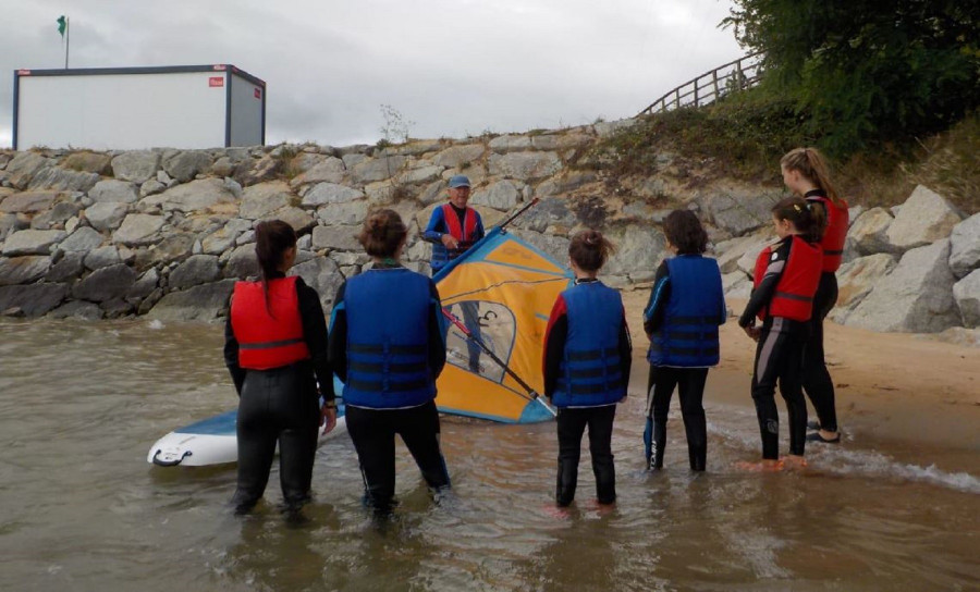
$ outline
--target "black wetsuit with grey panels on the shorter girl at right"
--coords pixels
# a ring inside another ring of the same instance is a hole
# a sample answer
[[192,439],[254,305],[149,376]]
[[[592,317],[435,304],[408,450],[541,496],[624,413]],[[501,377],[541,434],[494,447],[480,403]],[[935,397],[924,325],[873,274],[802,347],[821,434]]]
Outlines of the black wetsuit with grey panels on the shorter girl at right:
[[[773,257],[759,286],[752,291],[745,311],[738,319],[743,328],[752,326],[756,314],[767,308],[775,294],[786,261],[792,237],[773,247]],[[752,400],[762,435],[762,458],[779,459],[780,415],[775,405],[775,387],[786,402],[789,418],[789,454],[803,456],[807,436],[807,404],[803,395],[803,355],[808,326],[806,321],[767,316],[756,346],[752,373]]]

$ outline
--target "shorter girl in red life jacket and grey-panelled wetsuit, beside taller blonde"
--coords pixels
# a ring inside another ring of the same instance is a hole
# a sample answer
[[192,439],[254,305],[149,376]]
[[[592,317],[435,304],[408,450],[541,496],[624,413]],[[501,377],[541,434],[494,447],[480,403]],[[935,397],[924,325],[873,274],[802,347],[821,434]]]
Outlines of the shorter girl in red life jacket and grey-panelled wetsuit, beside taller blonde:
[[[758,465],[762,469],[777,469],[784,464],[806,466],[803,353],[822,261],[814,236],[816,221],[805,200],[783,199],[772,209],[772,222],[780,240],[759,254],[752,294],[738,319],[738,324],[758,342],[752,400],[762,436],[762,464]],[[762,320],[761,329],[756,326],[756,317]],[[779,460],[776,382],[789,417],[789,455],[783,462]]]

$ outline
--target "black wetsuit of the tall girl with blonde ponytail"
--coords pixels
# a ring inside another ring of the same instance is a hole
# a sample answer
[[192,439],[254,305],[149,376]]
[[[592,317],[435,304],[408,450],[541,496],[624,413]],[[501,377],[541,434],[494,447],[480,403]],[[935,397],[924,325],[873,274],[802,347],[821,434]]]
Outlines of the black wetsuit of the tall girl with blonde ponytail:
[[[808,192],[810,195],[823,195],[819,189]],[[812,208],[824,208],[820,201],[810,201]],[[824,213],[824,217],[826,214]],[[820,274],[820,284],[813,296],[813,316],[810,317],[809,334],[804,348],[804,377],[803,386],[813,409],[820,428],[829,432],[837,431],[837,410],[834,400],[834,381],[826,370],[826,360],[823,354],[823,320],[837,304],[837,275],[833,271],[824,271]]]

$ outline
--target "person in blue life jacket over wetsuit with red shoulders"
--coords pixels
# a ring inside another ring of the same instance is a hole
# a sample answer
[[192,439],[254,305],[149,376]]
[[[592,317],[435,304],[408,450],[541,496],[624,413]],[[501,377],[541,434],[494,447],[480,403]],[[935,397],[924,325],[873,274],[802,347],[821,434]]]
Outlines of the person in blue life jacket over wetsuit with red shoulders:
[[612,429],[616,404],[626,398],[633,346],[620,293],[596,279],[612,250],[597,231],[572,238],[575,285],[559,295],[544,334],[544,395],[558,407],[561,507],[575,498],[586,427],[598,501],[616,499]]

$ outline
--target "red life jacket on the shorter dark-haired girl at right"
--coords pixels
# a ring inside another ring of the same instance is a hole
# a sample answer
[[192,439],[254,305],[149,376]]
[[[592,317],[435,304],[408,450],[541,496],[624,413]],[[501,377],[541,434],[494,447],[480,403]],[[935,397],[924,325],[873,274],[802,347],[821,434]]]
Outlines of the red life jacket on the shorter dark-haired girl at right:
[[[772,257],[772,246],[762,249],[756,259],[756,270],[752,278],[752,287],[759,287],[769,260]],[[775,294],[763,310],[759,311],[759,320],[771,317],[784,317],[794,321],[809,321],[813,313],[813,295],[817,294],[817,285],[820,283],[821,266],[820,246],[807,243],[797,235],[793,235],[793,246],[789,248],[789,260],[783,268],[783,274],[776,284]]]

